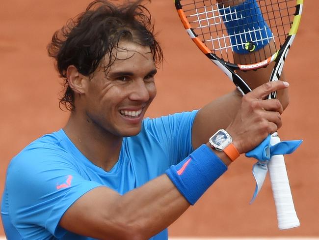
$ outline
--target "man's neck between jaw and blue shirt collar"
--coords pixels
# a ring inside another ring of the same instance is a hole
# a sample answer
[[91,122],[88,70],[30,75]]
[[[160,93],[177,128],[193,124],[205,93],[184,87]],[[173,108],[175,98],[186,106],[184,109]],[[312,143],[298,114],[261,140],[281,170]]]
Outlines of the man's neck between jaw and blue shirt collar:
[[76,112],[63,128],[81,153],[95,165],[110,171],[117,163],[123,137],[115,136]]

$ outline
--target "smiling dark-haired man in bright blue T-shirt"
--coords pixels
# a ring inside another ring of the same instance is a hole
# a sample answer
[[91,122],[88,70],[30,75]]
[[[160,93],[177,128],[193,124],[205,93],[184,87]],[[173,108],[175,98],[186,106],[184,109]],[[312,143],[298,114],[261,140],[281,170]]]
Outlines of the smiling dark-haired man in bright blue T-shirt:
[[[8,167],[1,217],[9,240],[167,239],[166,228],[227,165],[281,126],[288,104],[281,81],[143,120],[162,54],[140,2],[94,1],[53,35],[49,55],[71,114]],[[275,90],[283,90],[283,105],[263,100]],[[208,143],[218,129],[232,136],[231,152]]]

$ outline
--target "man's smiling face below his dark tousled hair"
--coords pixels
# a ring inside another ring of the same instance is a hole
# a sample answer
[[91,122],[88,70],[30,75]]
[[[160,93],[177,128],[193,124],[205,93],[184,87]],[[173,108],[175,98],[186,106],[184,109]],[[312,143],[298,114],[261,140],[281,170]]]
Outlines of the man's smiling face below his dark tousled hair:
[[156,96],[157,70],[149,47],[121,41],[117,50],[109,70],[100,66],[87,81],[79,103],[87,122],[100,130],[133,136],[140,132],[144,114]]

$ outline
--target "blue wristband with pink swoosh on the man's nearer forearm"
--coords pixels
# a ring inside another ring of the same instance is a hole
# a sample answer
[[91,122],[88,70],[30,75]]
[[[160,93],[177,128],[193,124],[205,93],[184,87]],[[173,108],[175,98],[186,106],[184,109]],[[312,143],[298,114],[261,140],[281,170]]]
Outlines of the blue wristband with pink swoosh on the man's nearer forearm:
[[166,170],[189,204],[194,205],[204,192],[227,170],[227,166],[205,144],[182,162]]

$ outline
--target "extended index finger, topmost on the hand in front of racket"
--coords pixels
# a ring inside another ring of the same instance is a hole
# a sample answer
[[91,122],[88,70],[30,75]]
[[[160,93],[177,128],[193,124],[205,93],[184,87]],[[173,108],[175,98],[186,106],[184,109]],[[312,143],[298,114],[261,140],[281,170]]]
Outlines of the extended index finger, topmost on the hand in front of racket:
[[247,93],[251,97],[257,98],[257,99],[263,99],[267,95],[269,95],[273,91],[281,90],[281,89],[286,89],[289,87],[288,82],[283,82],[283,81],[273,81],[273,82],[268,82],[265,83],[258,88],[252,90],[251,92]]

